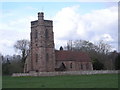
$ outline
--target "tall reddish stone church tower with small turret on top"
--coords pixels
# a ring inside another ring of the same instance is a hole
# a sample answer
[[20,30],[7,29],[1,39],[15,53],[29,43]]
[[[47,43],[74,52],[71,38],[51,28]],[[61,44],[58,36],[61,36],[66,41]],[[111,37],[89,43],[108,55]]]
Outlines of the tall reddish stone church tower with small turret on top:
[[44,20],[44,13],[38,13],[38,20],[31,22],[31,64],[30,71],[55,71],[55,50],[53,21]]

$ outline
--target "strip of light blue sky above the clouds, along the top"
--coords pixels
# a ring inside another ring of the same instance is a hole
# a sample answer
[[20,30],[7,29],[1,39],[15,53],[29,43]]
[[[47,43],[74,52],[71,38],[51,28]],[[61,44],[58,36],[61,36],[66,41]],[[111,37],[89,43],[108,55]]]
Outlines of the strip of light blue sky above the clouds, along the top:
[[[28,14],[34,14],[38,11],[44,11],[49,15],[52,13],[57,13],[57,11],[59,11],[61,8],[74,5],[80,5],[81,8],[79,10],[79,13],[82,14],[88,13],[91,10],[103,9],[117,5],[117,2],[3,2],[2,11],[3,14],[6,14],[7,12],[14,12],[18,10],[20,12],[26,12],[27,9],[29,10],[30,8],[34,8],[33,11],[27,11]],[[24,15],[28,14],[24,13]]]

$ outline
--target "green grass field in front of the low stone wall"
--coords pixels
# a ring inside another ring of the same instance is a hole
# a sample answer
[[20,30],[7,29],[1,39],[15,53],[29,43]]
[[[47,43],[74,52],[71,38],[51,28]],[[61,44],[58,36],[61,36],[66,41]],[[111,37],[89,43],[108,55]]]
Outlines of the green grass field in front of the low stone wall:
[[118,75],[3,76],[3,88],[118,88]]

